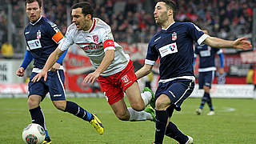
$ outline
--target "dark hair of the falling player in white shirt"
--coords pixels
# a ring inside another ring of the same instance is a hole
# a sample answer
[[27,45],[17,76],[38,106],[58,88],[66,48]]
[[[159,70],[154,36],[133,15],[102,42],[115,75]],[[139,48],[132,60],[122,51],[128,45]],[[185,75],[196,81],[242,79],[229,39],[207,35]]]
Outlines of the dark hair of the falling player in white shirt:
[[90,14],[91,18],[94,18],[94,9],[90,6],[90,2],[78,2],[71,7],[71,9],[82,8],[82,14],[87,15]]

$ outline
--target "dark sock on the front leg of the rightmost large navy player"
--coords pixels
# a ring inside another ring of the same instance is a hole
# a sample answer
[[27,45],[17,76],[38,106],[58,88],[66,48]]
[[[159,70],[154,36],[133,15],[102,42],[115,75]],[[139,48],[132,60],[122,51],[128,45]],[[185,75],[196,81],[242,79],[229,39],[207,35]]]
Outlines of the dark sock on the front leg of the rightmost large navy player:
[[162,144],[164,135],[166,134],[166,124],[168,120],[168,112],[167,110],[155,110],[155,135],[154,135],[154,143]]

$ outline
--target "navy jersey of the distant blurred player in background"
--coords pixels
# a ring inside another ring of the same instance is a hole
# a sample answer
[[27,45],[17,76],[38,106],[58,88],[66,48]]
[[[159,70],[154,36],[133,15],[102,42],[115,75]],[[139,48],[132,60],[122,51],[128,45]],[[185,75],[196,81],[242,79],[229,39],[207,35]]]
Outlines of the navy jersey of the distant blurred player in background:
[[[207,45],[195,45],[194,54],[199,55],[199,72],[205,72],[216,70],[215,55],[222,54],[222,50]],[[220,58],[222,63],[223,57],[220,56]]]

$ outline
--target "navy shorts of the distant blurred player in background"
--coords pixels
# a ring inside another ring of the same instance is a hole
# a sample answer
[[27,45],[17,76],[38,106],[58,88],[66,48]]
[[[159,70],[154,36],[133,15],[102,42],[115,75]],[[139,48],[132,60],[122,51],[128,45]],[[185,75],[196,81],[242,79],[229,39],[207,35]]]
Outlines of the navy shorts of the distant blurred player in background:
[[214,80],[214,71],[200,72],[198,77],[199,89],[203,86],[209,86],[211,88],[211,83]]

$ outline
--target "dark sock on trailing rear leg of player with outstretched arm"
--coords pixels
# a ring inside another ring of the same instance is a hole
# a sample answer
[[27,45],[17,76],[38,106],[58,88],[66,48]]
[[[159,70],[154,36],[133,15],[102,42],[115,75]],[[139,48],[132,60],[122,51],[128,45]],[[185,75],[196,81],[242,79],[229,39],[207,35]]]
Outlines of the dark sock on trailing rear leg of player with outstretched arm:
[[180,144],[186,143],[188,140],[187,136],[183,134],[181,130],[178,130],[178,127],[173,122],[169,122],[166,127],[166,136],[174,138]]

